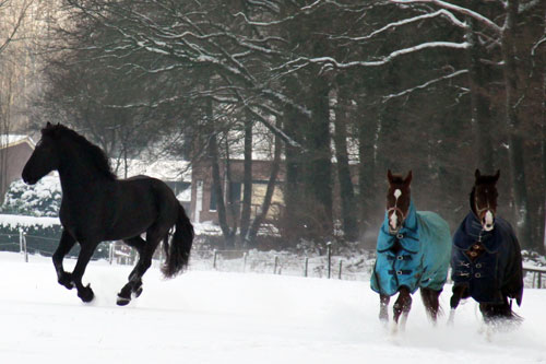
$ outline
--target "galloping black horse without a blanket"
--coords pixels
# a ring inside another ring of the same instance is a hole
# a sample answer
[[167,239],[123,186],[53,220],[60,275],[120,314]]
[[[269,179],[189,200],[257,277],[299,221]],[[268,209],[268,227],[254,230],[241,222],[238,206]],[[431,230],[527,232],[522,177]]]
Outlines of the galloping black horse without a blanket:
[[[127,305],[132,295],[142,293],[142,275],[152,265],[161,240],[165,247],[162,270],[166,278],[175,277],[188,265],[193,226],[163,181],[147,176],[118,180],[98,146],[64,126],[48,122],[26,162],[23,180],[34,185],[51,171],[58,171],[61,179],[59,216],[63,227],[52,260],[58,282],[69,290],[75,286],[83,302],[94,297],[91,286],[82,284],[82,277],[100,242],[121,239],[139,251],[129,282],[118,293],[118,305]],[[143,233],[146,239],[141,237]],[[62,260],[76,242],[80,256],[73,272],[68,273]]]

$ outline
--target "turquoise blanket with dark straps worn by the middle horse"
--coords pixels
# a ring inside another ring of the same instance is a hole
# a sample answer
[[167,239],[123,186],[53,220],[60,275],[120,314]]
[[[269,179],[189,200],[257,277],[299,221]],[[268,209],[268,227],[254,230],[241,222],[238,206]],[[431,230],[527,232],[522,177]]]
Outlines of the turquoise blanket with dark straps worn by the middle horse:
[[377,240],[371,289],[388,296],[403,285],[412,293],[418,287],[441,291],[448,278],[450,257],[448,223],[434,212],[417,212],[412,201],[404,226],[396,235],[389,233],[385,213]]

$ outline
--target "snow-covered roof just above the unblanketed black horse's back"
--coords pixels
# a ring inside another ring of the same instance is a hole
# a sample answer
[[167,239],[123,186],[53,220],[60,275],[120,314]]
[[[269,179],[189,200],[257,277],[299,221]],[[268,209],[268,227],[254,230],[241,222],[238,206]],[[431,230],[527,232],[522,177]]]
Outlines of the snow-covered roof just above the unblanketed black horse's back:
[[[117,161],[111,161],[115,167]],[[181,180],[191,183],[191,166],[188,161],[156,160],[153,162],[142,160],[128,160],[127,176],[146,175],[162,180]],[[118,167],[118,176],[124,178],[123,162]]]

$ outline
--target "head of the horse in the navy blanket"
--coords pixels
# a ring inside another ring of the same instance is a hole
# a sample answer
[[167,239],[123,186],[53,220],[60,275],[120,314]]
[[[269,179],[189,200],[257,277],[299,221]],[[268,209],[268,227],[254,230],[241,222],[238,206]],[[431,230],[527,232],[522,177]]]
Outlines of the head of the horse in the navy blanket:
[[500,171],[495,175],[482,175],[479,169],[474,174],[476,180],[471,192],[471,209],[478,218],[486,232],[495,227],[495,214],[497,213],[497,180]]

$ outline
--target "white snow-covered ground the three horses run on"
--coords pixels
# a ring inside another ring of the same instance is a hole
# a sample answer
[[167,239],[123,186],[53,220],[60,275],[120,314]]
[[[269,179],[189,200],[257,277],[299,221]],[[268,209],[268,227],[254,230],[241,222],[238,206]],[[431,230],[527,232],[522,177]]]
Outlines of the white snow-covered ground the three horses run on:
[[130,269],[92,261],[84,281],[96,298],[86,305],[57,284],[49,259],[0,253],[0,363],[546,362],[546,290],[526,290],[524,322],[489,341],[473,302],[454,327],[443,317],[435,328],[417,294],[394,337],[366,281],[197,269],[165,281],[153,268],[142,296],[118,307]]

